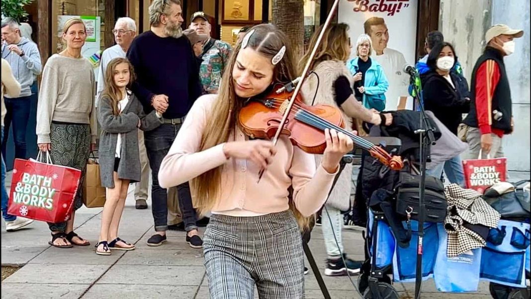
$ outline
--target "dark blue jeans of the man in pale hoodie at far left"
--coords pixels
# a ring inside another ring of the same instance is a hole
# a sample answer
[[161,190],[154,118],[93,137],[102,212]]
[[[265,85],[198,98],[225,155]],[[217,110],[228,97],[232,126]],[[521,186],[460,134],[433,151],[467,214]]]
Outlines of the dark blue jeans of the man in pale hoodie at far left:
[[11,124],[13,124],[13,141],[15,159],[26,157],[26,128],[30,117],[31,97],[4,98],[7,113],[4,119],[5,135],[2,138],[2,156],[6,157],[6,144]]

